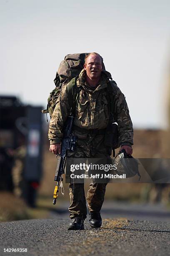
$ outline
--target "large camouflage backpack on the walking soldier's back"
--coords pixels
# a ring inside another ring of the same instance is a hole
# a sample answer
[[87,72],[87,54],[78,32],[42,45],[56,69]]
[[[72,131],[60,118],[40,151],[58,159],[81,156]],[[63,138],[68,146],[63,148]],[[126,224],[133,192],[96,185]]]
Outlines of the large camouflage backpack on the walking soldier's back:
[[[85,56],[89,53],[81,53],[81,54],[67,54],[63,61],[61,61],[58,71],[56,72],[56,77],[54,79],[55,88],[50,92],[50,95],[47,99],[47,109],[42,110],[42,113],[50,114],[50,118],[55,109],[55,105],[57,102],[57,98],[60,95],[61,87],[64,84],[67,84],[71,81],[72,78],[78,77],[82,69],[84,68]],[[103,64],[103,70],[105,70],[105,66]],[[70,84],[70,87],[73,87],[74,83]],[[73,92],[72,88],[68,90],[68,97],[70,98],[70,102],[73,102]],[[47,119],[48,121],[48,119]]]

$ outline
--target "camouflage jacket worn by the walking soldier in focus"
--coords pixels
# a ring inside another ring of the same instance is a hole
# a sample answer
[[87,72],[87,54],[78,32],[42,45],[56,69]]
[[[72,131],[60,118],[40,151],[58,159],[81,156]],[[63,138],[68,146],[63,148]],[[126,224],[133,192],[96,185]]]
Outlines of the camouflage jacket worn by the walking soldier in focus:
[[[74,125],[88,130],[106,128],[110,118],[107,83],[109,79],[102,73],[99,85],[95,90],[90,90],[85,82],[86,72],[83,69],[77,79],[77,86],[80,93],[76,102]],[[114,88],[114,121],[118,124],[119,145],[133,145],[133,125],[130,119],[128,105],[125,96],[117,85],[112,83]],[[69,83],[62,87],[60,97],[58,97],[55,110],[50,120],[48,137],[50,144],[60,143],[63,133],[63,124],[70,113],[68,103],[67,87]]]

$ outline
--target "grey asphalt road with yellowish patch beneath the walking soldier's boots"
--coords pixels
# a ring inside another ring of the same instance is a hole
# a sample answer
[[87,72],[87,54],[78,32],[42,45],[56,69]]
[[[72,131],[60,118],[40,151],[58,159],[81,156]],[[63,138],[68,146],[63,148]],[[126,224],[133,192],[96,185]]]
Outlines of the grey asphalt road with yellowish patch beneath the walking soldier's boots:
[[[113,205],[117,215],[128,218],[117,218],[111,212]],[[68,231],[70,220],[62,209],[53,211],[49,219],[0,223],[0,255],[170,255],[168,210],[159,205],[128,205],[112,203],[111,207],[107,202],[102,216],[112,218],[103,218],[99,229],[90,228],[86,220],[85,230]],[[3,253],[4,248],[28,252]]]

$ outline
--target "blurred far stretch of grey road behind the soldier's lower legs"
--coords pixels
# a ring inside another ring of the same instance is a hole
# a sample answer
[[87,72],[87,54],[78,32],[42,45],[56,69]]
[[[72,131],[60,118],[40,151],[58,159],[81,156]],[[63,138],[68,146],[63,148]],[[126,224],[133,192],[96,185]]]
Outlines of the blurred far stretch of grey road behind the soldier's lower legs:
[[[50,212],[50,218],[69,219],[69,202],[54,206]],[[170,209],[163,204],[146,204],[130,202],[104,201],[102,218],[129,218],[130,220],[155,220],[170,222]]]

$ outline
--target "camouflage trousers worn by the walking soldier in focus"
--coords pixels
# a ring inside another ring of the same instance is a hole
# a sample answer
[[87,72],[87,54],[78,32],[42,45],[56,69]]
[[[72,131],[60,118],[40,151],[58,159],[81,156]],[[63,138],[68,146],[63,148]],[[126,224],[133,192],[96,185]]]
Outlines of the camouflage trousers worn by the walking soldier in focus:
[[[73,135],[77,136],[77,144],[75,152],[69,152],[69,158],[100,158],[107,159],[107,163],[111,164],[110,157],[111,148],[104,146],[104,135],[91,135],[90,133],[80,133],[74,131]],[[105,190],[107,183],[95,183],[92,180],[90,189],[87,192],[87,206],[89,212],[99,212],[104,202]],[[87,215],[87,207],[85,200],[84,184],[69,184],[70,191],[70,218],[80,217],[85,219]]]

